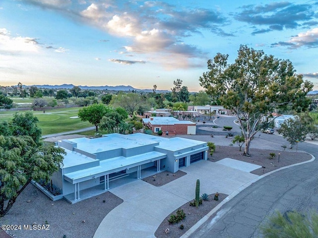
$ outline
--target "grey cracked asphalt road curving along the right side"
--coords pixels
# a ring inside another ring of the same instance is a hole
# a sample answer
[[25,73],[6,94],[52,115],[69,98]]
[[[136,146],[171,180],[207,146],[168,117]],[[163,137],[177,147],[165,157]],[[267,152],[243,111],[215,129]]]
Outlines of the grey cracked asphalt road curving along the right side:
[[[257,136],[257,135],[256,135]],[[262,133],[260,140],[287,144],[280,136]],[[298,149],[318,158],[318,146],[299,143]],[[318,210],[318,159],[274,172],[253,183],[226,203],[190,238],[258,238],[259,226],[275,210]]]

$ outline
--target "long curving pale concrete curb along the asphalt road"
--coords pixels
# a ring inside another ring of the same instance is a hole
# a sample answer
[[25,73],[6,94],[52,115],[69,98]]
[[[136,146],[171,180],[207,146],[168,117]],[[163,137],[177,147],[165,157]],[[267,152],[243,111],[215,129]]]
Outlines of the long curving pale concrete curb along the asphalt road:
[[[307,153],[307,152],[306,152]],[[309,154],[309,153],[307,153]],[[295,163],[295,164],[291,164],[291,165],[287,165],[285,167],[281,167],[278,169],[275,169],[273,171],[270,171],[268,173],[265,173],[263,175],[258,176],[257,178],[254,178],[253,180],[251,180],[248,183],[245,183],[244,185],[240,186],[237,190],[235,190],[233,193],[231,193],[228,197],[226,197],[222,202],[220,202],[220,204],[218,204],[215,208],[213,208],[207,215],[205,215],[200,221],[198,221],[194,226],[192,226],[188,231],[186,231],[186,233],[184,233],[180,238],[188,238],[190,235],[192,235],[203,223],[205,223],[211,216],[213,216],[224,204],[226,204],[227,202],[229,202],[231,199],[233,199],[236,195],[238,195],[241,191],[243,191],[245,188],[249,187],[252,183],[264,178],[265,176],[268,176],[274,172],[289,168],[289,167],[293,167],[293,166],[297,166],[297,165],[301,165],[304,163],[309,163],[314,161],[316,158],[315,156],[313,156],[312,154],[309,154],[312,156],[312,159],[308,160],[308,161],[304,161],[304,162],[299,162],[299,163]]]

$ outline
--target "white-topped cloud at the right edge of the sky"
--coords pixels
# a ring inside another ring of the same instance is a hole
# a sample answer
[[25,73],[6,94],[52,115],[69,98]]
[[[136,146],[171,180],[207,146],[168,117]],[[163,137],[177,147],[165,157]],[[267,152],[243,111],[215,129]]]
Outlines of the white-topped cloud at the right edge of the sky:
[[300,47],[316,48],[318,47],[318,28],[301,32],[296,36],[292,36],[287,42],[274,43],[272,46],[289,46],[291,49]]

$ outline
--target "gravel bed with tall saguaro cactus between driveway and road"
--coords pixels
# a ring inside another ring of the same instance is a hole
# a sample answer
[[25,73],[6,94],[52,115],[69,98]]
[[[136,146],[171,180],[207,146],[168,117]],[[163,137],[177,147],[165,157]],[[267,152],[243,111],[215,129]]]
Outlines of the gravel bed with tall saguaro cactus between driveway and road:
[[[160,224],[157,229],[155,236],[157,238],[179,238],[186,231],[188,231],[192,226],[194,226],[201,218],[207,215],[215,206],[217,206],[223,199],[225,199],[228,195],[220,193],[219,200],[214,200],[214,194],[209,195],[209,201],[202,201],[202,205],[199,208],[192,207],[189,205],[189,202],[182,205],[179,209],[182,209],[186,214],[186,217],[179,223],[169,224],[168,219],[171,214],[175,214],[176,210],[167,216],[163,222]],[[180,225],[184,226],[184,229],[180,229]],[[166,234],[166,229],[169,229],[169,233]]]

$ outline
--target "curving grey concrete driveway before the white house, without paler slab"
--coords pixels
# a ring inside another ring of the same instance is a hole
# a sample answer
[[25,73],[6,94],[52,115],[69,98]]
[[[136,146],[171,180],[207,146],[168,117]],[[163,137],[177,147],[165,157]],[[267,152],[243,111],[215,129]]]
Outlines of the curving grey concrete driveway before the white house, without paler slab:
[[202,193],[231,194],[258,177],[206,160],[180,170],[187,174],[161,187],[137,180],[110,189],[124,202],[103,219],[94,238],[155,238],[161,222],[175,209],[193,200],[197,178],[200,179]]

